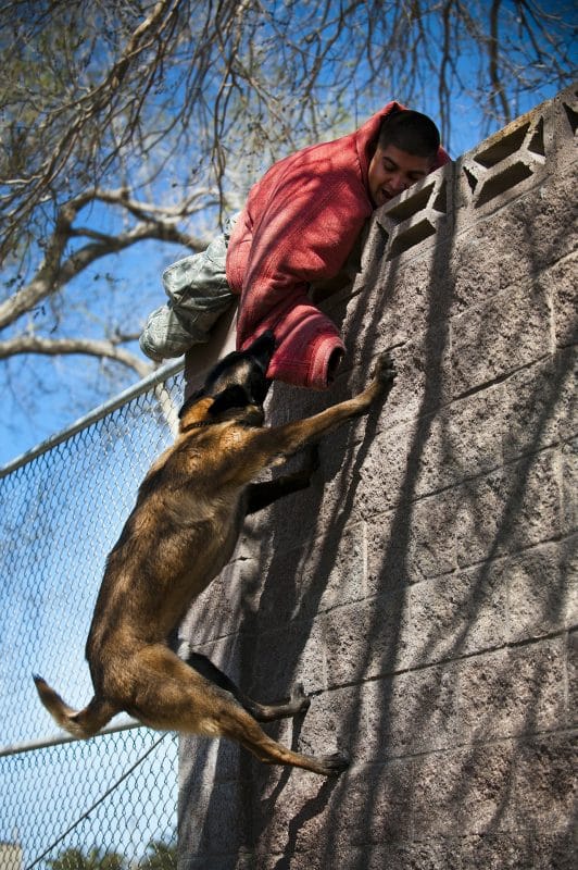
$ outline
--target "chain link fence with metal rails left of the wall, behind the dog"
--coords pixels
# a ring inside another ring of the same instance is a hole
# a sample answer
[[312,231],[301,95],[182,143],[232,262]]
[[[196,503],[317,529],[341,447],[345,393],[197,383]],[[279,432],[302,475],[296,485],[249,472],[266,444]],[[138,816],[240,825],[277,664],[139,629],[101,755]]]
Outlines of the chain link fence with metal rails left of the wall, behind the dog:
[[74,707],[91,697],[84,646],[104,561],[181,399],[167,366],[0,470],[0,870],[176,867],[176,735],[117,719],[71,739],[32,674]]

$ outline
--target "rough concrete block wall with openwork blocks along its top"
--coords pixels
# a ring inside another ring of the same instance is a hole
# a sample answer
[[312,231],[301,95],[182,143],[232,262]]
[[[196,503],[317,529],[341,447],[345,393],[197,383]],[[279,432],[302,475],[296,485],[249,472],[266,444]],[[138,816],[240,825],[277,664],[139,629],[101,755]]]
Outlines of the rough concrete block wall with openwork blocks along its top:
[[578,90],[377,212],[349,355],[321,410],[389,348],[388,402],[324,440],[313,485],[247,523],[183,636],[267,726],[351,755],[339,780],[225,741],[180,746],[183,870],[574,867]]

